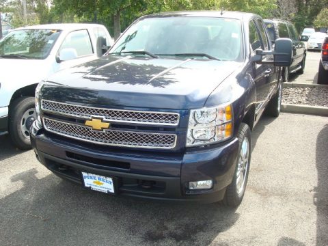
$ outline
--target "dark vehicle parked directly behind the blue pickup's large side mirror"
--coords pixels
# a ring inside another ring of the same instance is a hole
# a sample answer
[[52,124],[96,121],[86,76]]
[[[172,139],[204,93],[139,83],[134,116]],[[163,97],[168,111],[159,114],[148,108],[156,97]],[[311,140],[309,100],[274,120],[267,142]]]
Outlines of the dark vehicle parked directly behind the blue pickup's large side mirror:
[[273,42],[277,38],[290,38],[292,40],[292,64],[284,68],[284,82],[288,82],[290,73],[299,72],[303,74],[306,59],[306,47],[301,41],[295,26],[286,20],[264,20]]

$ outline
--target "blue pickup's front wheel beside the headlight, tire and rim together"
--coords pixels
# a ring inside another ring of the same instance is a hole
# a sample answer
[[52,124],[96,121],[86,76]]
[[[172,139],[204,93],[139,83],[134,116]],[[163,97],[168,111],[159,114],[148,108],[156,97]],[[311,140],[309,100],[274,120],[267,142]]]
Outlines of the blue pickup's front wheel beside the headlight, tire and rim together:
[[251,130],[245,123],[241,123],[238,133],[238,155],[232,183],[227,187],[223,198],[223,205],[237,207],[243,200],[251,162]]

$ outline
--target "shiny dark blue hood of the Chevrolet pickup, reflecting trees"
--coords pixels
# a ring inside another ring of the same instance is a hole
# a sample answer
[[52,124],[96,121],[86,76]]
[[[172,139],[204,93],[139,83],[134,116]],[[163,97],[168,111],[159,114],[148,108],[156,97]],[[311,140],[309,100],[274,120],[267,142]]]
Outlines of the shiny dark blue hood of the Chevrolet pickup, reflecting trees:
[[57,72],[42,94],[86,105],[191,109],[203,107],[238,66],[234,61],[108,55]]

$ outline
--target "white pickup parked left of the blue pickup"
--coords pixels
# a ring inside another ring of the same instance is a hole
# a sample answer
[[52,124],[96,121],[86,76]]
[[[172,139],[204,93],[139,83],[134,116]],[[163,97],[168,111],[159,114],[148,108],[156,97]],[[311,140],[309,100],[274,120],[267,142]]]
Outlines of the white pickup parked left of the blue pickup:
[[102,25],[53,24],[23,27],[0,40],[0,135],[29,149],[36,119],[34,92],[49,75],[102,56],[112,44]]

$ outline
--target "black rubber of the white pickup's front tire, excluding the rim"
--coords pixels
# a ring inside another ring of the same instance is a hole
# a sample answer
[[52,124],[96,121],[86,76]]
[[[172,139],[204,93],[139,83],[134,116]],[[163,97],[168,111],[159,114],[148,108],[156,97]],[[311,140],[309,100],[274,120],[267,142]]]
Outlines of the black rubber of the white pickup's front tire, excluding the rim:
[[30,140],[27,139],[21,129],[20,129],[20,121],[22,120],[23,114],[28,109],[35,108],[35,99],[33,97],[23,96],[21,98],[17,98],[12,102],[10,106],[10,120],[9,120],[9,133],[10,138],[15,146],[20,148],[21,150],[29,150],[31,148]]

